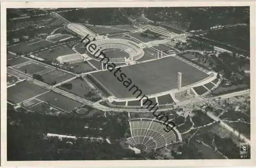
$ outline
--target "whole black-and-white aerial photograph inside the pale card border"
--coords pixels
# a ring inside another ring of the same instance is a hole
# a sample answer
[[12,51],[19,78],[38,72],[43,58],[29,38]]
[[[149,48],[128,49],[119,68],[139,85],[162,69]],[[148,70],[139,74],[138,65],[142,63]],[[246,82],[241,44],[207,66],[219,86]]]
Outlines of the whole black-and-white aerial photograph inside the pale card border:
[[7,160],[250,159],[249,14],[7,8]]

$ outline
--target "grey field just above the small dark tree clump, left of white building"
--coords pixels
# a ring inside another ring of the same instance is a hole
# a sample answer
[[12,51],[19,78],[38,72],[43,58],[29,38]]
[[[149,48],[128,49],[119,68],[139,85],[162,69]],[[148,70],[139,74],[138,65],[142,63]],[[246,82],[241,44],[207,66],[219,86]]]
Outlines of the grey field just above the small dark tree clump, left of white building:
[[53,70],[50,67],[40,65],[39,63],[34,61],[27,61],[24,63],[20,63],[18,65],[15,65],[15,67],[13,68],[23,71],[24,73],[27,71],[27,74],[30,74],[30,75],[33,75],[33,74],[43,75]]

